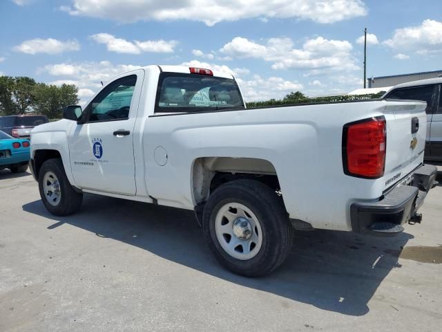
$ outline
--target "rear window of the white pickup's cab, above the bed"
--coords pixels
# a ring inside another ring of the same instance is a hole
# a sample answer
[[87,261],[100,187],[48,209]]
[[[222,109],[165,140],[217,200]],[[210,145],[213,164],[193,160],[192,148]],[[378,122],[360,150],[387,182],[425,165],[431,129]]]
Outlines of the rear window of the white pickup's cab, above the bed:
[[162,73],[155,112],[243,109],[235,80],[197,74]]

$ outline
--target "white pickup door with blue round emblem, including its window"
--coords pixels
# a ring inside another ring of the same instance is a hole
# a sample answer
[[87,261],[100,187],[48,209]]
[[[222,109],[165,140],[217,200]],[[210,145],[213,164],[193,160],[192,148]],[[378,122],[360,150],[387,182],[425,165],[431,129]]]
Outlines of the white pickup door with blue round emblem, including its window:
[[144,70],[119,75],[83,111],[69,134],[70,166],[78,187],[135,195],[134,126]]

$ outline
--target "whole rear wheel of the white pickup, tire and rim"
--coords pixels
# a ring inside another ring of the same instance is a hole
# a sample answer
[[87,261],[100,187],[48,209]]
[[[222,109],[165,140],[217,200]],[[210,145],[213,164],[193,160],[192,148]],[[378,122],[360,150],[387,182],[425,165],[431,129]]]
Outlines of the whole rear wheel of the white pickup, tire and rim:
[[204,237],[220,263],[256,277],[278,268],[289,255],[293,229],[273,190],[253,180],[218,187],[204,207]]

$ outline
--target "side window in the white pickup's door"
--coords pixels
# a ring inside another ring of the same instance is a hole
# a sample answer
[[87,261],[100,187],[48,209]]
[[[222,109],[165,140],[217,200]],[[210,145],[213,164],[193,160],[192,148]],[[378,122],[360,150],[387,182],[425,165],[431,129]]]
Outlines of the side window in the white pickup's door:
[[125,120],[129,117],[137,75],[112,82],[88,105],[89,122]]

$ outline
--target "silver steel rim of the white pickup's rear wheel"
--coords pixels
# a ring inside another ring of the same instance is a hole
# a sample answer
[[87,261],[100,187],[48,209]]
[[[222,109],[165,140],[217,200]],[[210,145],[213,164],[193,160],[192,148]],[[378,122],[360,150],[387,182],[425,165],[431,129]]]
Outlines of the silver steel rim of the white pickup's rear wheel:
[[[243,227],[246,220],[248,224]],[[247,234],[247,230],[250,230],[251,234]],[[241,203],[222,205],[215,216],[215,234],[224,251],[242,261],[258,255],[262,246],[260,222],[256,215]],[[245,238],[238,237],[238,234]]]

